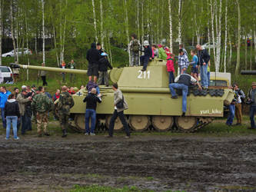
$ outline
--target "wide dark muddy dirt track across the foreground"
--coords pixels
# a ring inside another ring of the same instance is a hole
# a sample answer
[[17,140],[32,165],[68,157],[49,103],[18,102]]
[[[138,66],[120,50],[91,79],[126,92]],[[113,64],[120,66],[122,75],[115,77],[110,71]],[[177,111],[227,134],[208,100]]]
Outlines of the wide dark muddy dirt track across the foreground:
[[256,190],[256,136],[0,138],[1,190]]

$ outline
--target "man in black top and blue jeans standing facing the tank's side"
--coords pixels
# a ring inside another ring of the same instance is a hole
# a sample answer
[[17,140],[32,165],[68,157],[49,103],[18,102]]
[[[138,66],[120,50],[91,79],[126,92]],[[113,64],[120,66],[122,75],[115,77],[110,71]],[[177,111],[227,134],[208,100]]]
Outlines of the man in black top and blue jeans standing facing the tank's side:
[[91,134],[95,135],[95,124],[96,124],[96,108],[97,102],[101,103],[101,94],[96,95],[96,88],[91,88],[91,92],[86,96],[84,102],[86,102],[85,111],[85,135],[90,134],[89,121],[91,118]]

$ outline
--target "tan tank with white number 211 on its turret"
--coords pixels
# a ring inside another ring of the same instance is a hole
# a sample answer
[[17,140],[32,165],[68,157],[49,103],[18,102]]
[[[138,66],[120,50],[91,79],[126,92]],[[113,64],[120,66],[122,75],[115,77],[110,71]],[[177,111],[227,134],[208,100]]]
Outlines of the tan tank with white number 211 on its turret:
[[[87,71],[77,69],[62,69],[19,65],[20,68],[45,71],[65,71],[66,73],[86,74]],[[224,104],[230,104],[234,98],[228,87],[198,91],[191,89],[187,100],[187,112],[181,117],[181,96],[172,99],[168,88],[168,72],[166,61],[154,60],[148,64],[147,71],[142,67],[113,68],[109,71],[112,82],[117,82],[128,102],[125,115],[133,131],[169,131],[176,128],[182,132],[196,131],[211,123],[214,118],[224,115]],[[111,114],[114,111],[114,91],[110,87],[99,86],[102,102],[97,107],[98,127],[109,126]],[[85,130],[85,103],[83,99],[86,90],[80,90],[73,95],[75,106],[71,108],[71,127],[78,132]],[[119,119],[115,122],[115,130],[123,128]]]

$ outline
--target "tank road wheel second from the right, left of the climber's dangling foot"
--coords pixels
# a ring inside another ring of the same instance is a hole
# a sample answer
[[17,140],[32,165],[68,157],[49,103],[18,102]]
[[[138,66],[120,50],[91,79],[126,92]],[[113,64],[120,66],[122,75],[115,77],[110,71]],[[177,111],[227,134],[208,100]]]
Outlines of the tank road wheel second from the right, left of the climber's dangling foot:
[[158,131],[168,131],[174,124],[174,119],[171,116],[153,116],[152,124]]

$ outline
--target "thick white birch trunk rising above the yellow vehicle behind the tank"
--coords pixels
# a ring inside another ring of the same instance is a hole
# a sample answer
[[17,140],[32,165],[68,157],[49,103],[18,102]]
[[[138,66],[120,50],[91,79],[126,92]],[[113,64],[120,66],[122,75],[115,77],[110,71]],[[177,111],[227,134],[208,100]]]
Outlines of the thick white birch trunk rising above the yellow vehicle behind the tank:
[[[216,63],[215,63],[215,70],[216,72],[220,69],[220,63],[221,63],[221,8],[222,8],[222,0],[220,0],[219,5],[219,12],[218,12],[218,28],[217,28],[217,50],[216,50]],[[216,10],[217,12],[217,10]],[[217,15],[217,14],[216,14]]]

